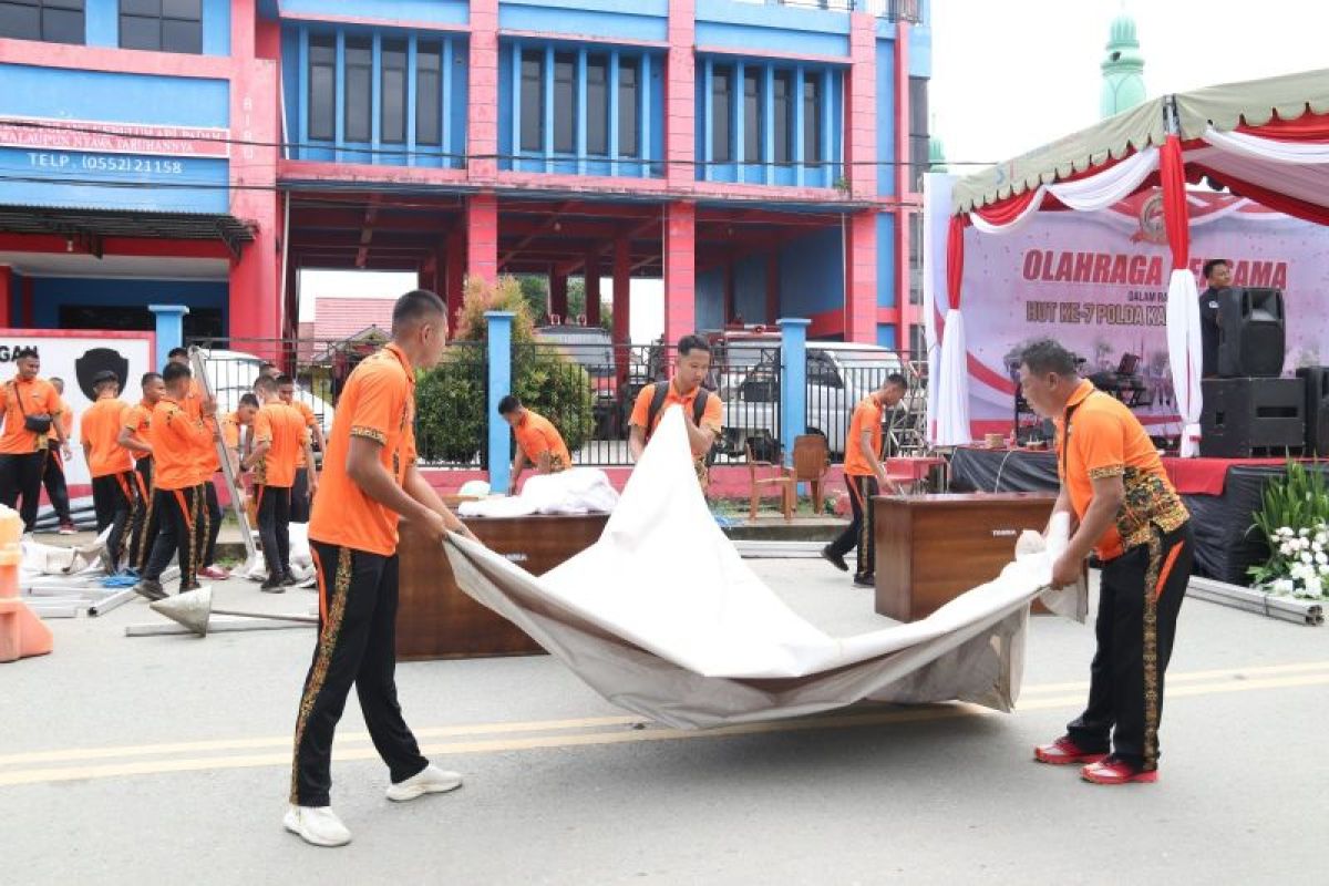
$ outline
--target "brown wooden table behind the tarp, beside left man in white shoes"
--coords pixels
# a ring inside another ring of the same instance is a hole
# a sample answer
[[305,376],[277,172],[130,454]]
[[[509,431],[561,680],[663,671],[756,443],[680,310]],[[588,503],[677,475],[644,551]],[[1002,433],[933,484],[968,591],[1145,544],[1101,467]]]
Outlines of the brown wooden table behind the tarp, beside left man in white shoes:
[[[542,575],[599,539],[609,514],[466,518],[488,547],[533,575]],[[465,659],[524,655],[544,650],[508,619],[457,587],[441,546],[401,523],[397,658]]]

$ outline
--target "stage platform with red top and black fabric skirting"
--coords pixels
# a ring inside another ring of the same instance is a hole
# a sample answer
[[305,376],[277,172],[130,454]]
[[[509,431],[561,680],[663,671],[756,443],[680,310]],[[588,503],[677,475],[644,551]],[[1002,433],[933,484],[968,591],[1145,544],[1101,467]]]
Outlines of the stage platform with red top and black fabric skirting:
[[[1282,476],[1285,464],[1282,458],[1163,460],[1191,511],[1195,574],[1245,584],[1247,567],[1268,558],[1268,547],[1251,527],[1265,484]],[[950,482],[986,493],[1057,491],[1057,457],[1047,450],[962,446],[950,458]]]

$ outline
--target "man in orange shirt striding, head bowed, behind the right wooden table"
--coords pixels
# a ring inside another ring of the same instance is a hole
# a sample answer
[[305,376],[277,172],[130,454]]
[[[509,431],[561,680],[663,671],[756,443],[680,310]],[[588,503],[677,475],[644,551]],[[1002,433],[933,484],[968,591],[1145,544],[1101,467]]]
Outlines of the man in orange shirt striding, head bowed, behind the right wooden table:
[[859,401],[849,418],[849,433],[844,438],[844,485],[849,487],[849,507],[853,519],[839,538],[821,549],[821,557],[837,570],[848,571],[844,555],[857,549],[857,569],[853,583],[874,587],[877,571],[877,545],[872,519],[872,498],[886,485],[886,469],[881,465],[882,413],[900,402],[909,391],[909,383],[897,372],[886,376],[881,388]]

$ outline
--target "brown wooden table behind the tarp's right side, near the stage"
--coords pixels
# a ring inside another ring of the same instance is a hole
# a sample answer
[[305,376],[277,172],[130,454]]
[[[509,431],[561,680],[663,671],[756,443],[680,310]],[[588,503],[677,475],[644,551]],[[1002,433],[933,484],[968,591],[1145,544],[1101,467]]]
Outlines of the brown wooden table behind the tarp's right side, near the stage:
[[873,498],[877,614],[916,622],[997,578],[1021,531],[1042,531],[1055,502],[1045,493]]

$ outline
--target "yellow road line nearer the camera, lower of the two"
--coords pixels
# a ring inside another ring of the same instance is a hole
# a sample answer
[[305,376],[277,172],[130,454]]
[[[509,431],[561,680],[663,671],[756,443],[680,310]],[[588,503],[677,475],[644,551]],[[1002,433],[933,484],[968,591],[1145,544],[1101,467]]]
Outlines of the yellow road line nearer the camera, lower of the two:
[[[1170,696],[1225,695],[1232,692],[1255,692],[1263,689],[1285,689],[1329,684],[1329,673],[1304,673],[1300,676],[1267,677],[1256,680],[1225,680],[1221,683],[1184,684],[1168,691]],[[1021,705],[1022,711],[1043,711],[1054,708],[1074,708],[1083,704],[1080,693],[1037,699]],[[534,751],[548,748],[577,748],[591,745],[630,744],[641,741],[676,741],[686,739],[720,739],[773,732],[805,732],[811,729],[837,729],[882,724],[922,723],[949,720],[956,717],[986,716],[991,711],[970,704],[948,704],[925,708],[893,708],[880,713],[833,715],[803,717],[799,720],[775,720],[738,724],[706,731],[683,729],[633,729],[622,732],[590,732],[575,735],[545,735],[514,739],[484,739],[474,741],[445,741],[425,744],[421,751],[431,756],[455,756],[472,753],[498,753],[509,751]],[[338,761],[372,760],[377,756],[373,748],[354,748],[334,754]],[[245,769],[255,766],[290,765],[290,753],[231,754],[213,757],[186,757],[167,760],[144,760],[138,762],[116,762],[86,766],[60,766],[40,769],[20,769],[0,772],[0,786],[23,784],[48,784],[57,781],[81,781],[90,778],[113,778],[125,776],[163,774],[171,772],[199,772],[221,769]]]

